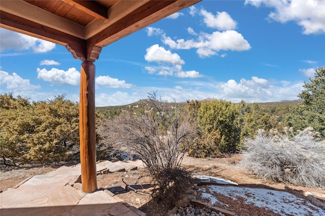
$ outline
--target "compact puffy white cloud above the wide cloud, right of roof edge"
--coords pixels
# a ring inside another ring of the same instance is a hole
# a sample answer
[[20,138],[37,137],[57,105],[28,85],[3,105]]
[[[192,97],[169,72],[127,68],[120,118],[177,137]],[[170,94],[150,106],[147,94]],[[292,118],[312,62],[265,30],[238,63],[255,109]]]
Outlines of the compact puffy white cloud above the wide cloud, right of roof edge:
[[217,12],[214,16],[212,13],[202,9],[200,14],[204,17],[204,23],[210,28],[216,28],[218,30],[232,30],[237,28],[237,22],[227,12]]

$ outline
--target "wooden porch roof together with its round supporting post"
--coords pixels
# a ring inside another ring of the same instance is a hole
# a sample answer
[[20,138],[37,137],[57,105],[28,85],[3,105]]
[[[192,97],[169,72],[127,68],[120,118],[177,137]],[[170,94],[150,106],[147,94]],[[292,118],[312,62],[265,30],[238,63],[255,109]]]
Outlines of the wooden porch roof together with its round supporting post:
[[200,1],[0,1],[0,27],[66,46],[74,58],[82,60],[79,132],[83,192],[97,188],[93,62],[103,47]]

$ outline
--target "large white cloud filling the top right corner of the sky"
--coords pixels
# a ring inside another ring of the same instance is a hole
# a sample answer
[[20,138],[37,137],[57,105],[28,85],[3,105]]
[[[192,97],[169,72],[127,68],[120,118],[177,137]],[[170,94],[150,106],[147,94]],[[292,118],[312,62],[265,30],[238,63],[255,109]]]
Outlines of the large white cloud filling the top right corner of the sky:
[[245,4],[255,7],[262,5],[274,8],[268,16],[270,20],[281,23],[295,21],[302,26],[303,34],[325,33],[325,1],[317,0],[291,0],[291,1],[268,1],[268,0],[245,0]]

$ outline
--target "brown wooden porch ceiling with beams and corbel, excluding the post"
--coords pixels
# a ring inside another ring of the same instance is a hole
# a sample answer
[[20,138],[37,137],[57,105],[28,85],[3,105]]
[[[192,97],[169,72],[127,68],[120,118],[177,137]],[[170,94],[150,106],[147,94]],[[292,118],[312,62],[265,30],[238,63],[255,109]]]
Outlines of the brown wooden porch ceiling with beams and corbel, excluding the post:
[[94,61],[93,47],[103,48],[200,1],[1,0],[0,27],[64,45],[75,58]]

